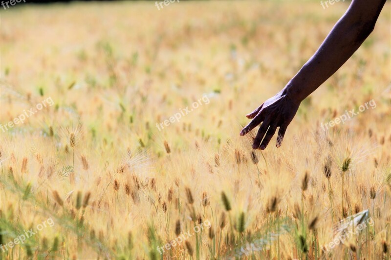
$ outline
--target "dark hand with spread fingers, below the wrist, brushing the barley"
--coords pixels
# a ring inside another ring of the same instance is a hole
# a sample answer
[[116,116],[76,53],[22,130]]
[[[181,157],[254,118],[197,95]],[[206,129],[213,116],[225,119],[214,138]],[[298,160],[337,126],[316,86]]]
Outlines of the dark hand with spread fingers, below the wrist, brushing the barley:
[[[296,115],[299,105],[300,101],[288,97],[284,91],[277,93],[276,96],[266,100],[260,107],[246,115],[247,118],[253,120],[240,131],[240,135],[246,135],[262,123],[254,139],[253,149],[261,148],[261,150],[264,150],[276,132],[277,127],[280,127],[276,143],[276,146],[280,147],[286,128]],[[263,136],[265,138],[262,141]]]

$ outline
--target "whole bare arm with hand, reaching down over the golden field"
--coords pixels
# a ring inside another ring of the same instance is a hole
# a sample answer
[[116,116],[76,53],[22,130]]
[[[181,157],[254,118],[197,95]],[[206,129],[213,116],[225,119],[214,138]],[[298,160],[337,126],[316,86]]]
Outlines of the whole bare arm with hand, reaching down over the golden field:
[[254,139],[253,149],[264,150],[278,127],[280,129],[276,146],[281,146],[286,128],[296,115],[300,103],[333,75],[367,39],[385,2],[386,0],[353,0],[300,71],[279,93],[246,115],[253,120],[240,131],[241,136],[262,123]]

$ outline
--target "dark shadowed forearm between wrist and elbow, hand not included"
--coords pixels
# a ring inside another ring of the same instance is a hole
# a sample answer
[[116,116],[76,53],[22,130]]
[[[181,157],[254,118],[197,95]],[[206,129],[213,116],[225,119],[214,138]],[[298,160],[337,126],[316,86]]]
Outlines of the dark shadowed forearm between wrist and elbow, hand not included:
[[288,82],[283,93],[302,101],[315,91],[353,55],[369,36],[383,5],[372,10],[372,14],[357,14],[357,10],[349,8],[316,53]]

